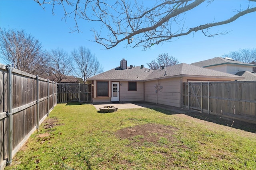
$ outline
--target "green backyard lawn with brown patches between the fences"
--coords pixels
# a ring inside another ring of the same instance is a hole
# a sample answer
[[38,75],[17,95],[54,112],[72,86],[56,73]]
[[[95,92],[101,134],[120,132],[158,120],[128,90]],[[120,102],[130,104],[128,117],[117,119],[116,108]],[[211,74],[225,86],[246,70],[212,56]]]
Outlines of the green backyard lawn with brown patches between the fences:
[[6,170],[253,170],[251,130],[160,108],[58,104]]

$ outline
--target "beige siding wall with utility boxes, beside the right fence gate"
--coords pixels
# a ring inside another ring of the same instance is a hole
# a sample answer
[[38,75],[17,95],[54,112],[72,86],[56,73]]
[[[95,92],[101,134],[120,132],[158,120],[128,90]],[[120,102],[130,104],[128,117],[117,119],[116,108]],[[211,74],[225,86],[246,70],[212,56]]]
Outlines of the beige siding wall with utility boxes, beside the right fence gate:
[[180,107],[180,78],[168,78],[145,82],[145,101]]

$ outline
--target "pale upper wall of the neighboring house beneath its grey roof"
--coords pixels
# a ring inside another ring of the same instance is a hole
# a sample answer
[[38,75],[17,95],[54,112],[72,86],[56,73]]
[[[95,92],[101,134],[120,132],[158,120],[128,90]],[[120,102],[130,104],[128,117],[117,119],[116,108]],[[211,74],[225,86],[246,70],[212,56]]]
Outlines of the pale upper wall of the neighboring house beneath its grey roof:
[[242,66],[242,65],[236,65],[236,64],[224,64],[224,65],[218,65],[218,66],[210,66],[205,67],[212,70],[217,70],[221,72],[226,72],[230,74],[236,74],[239,71],[252,71],[252,66]]

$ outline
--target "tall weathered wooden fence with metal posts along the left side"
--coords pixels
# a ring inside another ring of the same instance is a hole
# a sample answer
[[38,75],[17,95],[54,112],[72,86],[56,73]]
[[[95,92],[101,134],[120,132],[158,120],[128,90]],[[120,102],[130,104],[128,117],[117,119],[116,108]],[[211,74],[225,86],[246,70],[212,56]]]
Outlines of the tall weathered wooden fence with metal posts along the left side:
[[57,83],[0,64],[0,169],[56,105]]

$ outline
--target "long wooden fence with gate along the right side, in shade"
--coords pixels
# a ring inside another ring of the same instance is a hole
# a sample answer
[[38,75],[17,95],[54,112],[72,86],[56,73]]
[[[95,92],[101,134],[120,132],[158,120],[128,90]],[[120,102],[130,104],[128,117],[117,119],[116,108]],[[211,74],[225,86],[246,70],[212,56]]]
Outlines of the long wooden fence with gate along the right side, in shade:
[[256,81],[188,82],[184,108],[256,123]]

